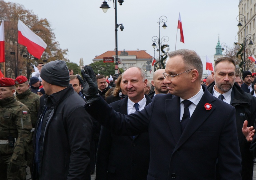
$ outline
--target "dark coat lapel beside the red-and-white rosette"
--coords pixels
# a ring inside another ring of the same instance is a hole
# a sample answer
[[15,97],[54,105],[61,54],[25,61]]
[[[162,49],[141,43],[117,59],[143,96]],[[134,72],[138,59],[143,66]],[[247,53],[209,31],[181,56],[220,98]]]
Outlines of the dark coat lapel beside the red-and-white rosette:
[[[205,120],[211,115],[211,113],[215,109],[215,105],[212,104],[212,102],[215,101],[214,96],[212,96],[208,90],[204,90],[204,94],[199,101],[195,111],[191,115],[183,133],[181,134],[181,138],[179,139],[179,142],[177,143],[174,151],[179,148],[183,143],[187,141],[187,139],[195,133],[195,131],[204,123]],[[212,105],[212,108],[210,110],[206,110],[204,108],[205,103],[209,103]]]

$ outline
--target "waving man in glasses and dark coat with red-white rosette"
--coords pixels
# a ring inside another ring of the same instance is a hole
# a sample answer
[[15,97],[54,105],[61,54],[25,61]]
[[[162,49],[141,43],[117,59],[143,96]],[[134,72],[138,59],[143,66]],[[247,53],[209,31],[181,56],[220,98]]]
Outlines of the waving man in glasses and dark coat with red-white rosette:
[[195,51],[181,49],[168,56],[164,77],[171,94],[158,94],[143,110],[129,115],[104,103],[95,93],[92,69],[85,67],[86,111],[112,133],[148,132],[147,180],[215,180],[217,159],[223,180],[241,180],[234,107],[200,85],[203,65]]

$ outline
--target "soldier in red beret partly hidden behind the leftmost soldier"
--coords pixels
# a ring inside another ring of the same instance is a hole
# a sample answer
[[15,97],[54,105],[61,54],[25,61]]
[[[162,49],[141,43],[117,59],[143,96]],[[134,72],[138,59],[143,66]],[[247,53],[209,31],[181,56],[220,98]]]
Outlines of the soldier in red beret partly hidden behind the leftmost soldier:
[[16,100],[25,104],[30,111],[31,123],[33,129],[31,130],[31,141],[26,148],[25,158],[27,160],[27,165],[30,168],[30,172],[32,173],[32,163],[33,163],[33,154],[34,148],[32,146],[32,138],[33,131],[35,127],[35,123],[37,122],[37,114],[39,109],[40,96],[32,93],[29,89],[28,79],[25,76],[18,76],[15,80],[15,89],[16,89]]

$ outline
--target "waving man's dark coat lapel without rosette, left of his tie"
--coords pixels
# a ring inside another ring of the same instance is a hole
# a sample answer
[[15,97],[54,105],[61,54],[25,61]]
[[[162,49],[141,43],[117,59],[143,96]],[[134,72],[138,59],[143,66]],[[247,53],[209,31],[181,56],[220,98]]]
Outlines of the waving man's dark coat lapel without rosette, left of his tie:
[[165,114],[174,141],[177,143],[181,137],[180,97],[173,96],[172,99],[165,100]]

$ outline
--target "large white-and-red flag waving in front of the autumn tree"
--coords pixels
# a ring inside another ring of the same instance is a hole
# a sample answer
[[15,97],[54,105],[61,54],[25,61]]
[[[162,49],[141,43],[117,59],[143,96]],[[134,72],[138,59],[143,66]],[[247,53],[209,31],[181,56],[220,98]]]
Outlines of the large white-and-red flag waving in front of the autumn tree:
[[40,59],[46,43],[38,35],[33,33],[22,21],[18,21],[18,43],[27,47],[27,50],[34,57]]

